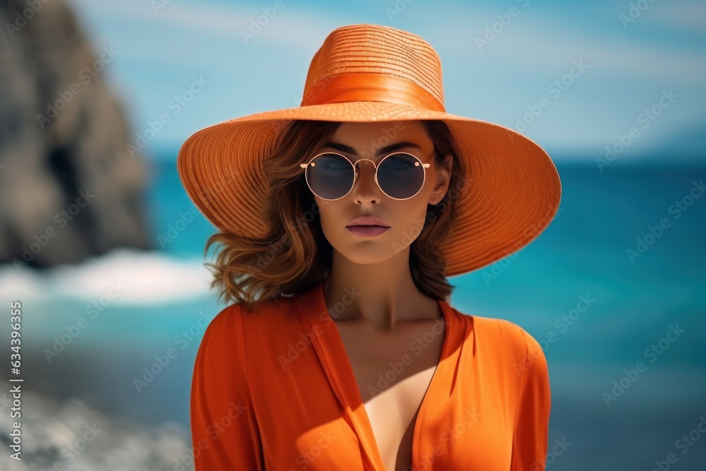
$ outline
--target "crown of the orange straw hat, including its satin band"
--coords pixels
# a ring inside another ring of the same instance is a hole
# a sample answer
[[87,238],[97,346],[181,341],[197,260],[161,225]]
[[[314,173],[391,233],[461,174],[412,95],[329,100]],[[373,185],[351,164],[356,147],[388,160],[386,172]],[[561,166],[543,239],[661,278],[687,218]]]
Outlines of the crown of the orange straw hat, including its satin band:
[[335,86],[329,86],[341,76],[353,80],[357,76],[382,79],[369,81],[369,88],[376,88],[374,91],[378,93],[370,93],[369,97],[359,93],[360,100],[400,102],[395,98],[386,100],[384,90],[392,90],[391,95],[394,95],[400,92],[400,88],[407,88],[407,93],[418,95],[415,105],[434,102],[434,109],[443,109],[441,59],[429,42],[411,32],[369,24],[347,25],[333,30],[311,60],[301,105],[346,101],[330,100],[325,96],[332,93],[326,88],[340,89],[352,83],[357,87],[358,83],[350,80],[339,80]]

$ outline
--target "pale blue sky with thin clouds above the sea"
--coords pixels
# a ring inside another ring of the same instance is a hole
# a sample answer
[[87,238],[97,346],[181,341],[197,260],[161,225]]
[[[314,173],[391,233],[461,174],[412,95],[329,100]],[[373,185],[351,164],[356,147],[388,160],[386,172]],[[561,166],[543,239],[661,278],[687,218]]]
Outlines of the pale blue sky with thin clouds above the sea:
[[[275,1],[69,3],[96,52],[119,51],[103,73],[126,106],[133,141],[168,114],[145,147],[148,158],[174,158],[165,150],[211,124],[298,106],[328,33],[374,23],[414,32],[436,49],[448,112],[517,130],[526,124],[522,132],[557,161],[594,160],[633,127],[623,160],[706,160],[706,2],[280,1],[247,43],[241,30]],[[582,71],[573,69],[570,85],[552,87],[573,64]],[[194,78],[203,83],[198,93],[174,106]],[[542,113],[527,124],[527,107],[542,98]],[[652,107],[659,116],[646,117]]]

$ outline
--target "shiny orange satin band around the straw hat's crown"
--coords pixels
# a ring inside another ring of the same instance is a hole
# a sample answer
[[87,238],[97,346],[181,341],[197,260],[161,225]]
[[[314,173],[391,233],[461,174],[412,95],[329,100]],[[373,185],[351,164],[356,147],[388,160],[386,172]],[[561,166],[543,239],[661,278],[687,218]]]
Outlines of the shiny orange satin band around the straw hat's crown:
[[[314,91],[318,90],[318,91]],[[371,73],[349,73],[323,78],[304,90],[301,106],[340,102],[388,102],[445,112],[443,103],[414,82]]]

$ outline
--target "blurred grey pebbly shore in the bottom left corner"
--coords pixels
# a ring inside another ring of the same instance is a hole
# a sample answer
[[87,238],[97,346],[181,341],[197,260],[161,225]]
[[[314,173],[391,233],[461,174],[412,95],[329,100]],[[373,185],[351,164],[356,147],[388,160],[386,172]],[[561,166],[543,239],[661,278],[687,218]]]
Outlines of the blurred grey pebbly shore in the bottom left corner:
[[21,460],[11,458],[12,398],[0,394],[0,469],[193,470],[189,429],[169,421],[148,427],[110,417],[78,398],[58,400],[32,390],[21,395]]

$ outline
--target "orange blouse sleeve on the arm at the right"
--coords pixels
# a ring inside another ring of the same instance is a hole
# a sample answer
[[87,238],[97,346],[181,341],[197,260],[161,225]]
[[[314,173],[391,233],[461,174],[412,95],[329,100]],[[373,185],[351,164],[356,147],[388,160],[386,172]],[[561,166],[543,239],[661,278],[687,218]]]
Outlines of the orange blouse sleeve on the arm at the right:
[[522,335],[527,352],[510,471],[544,471],[551,412],[549,368],[539,342],[525,330]]

